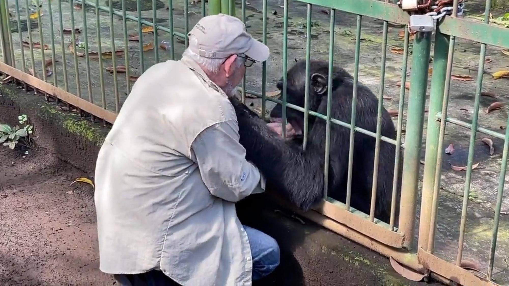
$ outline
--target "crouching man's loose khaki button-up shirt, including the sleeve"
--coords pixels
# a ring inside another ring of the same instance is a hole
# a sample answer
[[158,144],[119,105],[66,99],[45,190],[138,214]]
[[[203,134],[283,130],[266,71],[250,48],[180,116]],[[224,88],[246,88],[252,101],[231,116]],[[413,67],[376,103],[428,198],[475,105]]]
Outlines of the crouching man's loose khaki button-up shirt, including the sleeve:
[[235,202],[265,181],[245,159],[227,95],[192,60],[138,78],[101,147],[95,185],[101,271],[251,285]]

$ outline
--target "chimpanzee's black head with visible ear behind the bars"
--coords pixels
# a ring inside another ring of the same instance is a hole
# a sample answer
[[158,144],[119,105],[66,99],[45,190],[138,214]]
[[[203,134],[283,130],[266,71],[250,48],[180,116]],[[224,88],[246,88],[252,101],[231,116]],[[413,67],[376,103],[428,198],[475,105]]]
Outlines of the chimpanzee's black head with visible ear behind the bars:
[[[327,72],[327,66],[322,62],[313,62],[310,68],[309,76],[309,110],[317,111],[323,98],[327,97],[327,73],[323,74],[323,69]],[[306,70],[305,61],[297,62],[287,73],[287,103],[304,108],[305,102],[305,80]],[[277,82],[277,89],[282,91],[282,78]],[[282,92],[278,98],[282,101]],[[282,105],[277,104],[270,112],[271,121],[282,121]],[[304,112],[287,107],[286,117],[288,123],[296,130],[304,130]],[[314,117],[309,117],[309,124],[314,122]]]

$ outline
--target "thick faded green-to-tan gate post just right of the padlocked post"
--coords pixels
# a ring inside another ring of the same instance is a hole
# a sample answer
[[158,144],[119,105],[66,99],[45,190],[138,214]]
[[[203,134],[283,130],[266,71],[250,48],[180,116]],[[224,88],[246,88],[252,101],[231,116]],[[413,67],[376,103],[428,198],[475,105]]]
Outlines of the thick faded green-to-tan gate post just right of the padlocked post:
[[[453,40],[454,41],[454,40]],[[440,168],[440,165],[436,165],[438,160],[438,153],[441,153],[439,145],[439,133],[440,123],[435,120],[436,113],[440,112],[443,108],[442,101],[445,95],[445,84],[446,84],[446,72],[448,62],[448,48],[449,36],[440,33],[440,26],[437,27],[435,33],[435,49],[433,52],[433,75],[431,77],[431,91],[430,91],[430,106],[428,117],[428,129],[426,131],[426,158],[427,162],[424,165],[424,177],[422,184],[422,197],[421,197],[421,208],[420,208],[420,219],[419,219],[419,241],[418,245],[422,249],[428,249],[428,237],[431,227],[431,213],[433,203],[433,186],[435,180],[440,180],[439,177],[435,177],[436,168]],[[450,81],[449,81],[450,82]],[[402,84],[402,87],[404,85]],[[448,85],[447,85],[448,89]],[[448,94],[448,92],[447,92]]]

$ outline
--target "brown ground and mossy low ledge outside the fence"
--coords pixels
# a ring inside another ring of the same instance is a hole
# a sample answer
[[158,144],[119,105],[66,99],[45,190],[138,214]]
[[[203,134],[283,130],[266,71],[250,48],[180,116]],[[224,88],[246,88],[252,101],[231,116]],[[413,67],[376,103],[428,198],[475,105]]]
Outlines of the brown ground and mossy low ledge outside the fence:
[[[0,86],[0,122],[25,113],[35,126],[29,154],[0,148],[0,280],[2,285],[114,285],[98,269],[93,179],[107,128]],[[13,101],[14,100],[14,101]],[[258,286],[418,286],[386,258],[312,221],[254,196],[238,204],[242,222],[274,237],[281,264]],[[437,283],[430,283],[437,285]]]

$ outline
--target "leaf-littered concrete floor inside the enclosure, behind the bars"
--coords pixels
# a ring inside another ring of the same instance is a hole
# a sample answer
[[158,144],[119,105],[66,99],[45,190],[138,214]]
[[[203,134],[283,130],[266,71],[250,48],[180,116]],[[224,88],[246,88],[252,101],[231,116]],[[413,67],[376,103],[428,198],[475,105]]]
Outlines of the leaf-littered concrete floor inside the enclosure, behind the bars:
[[[281,1],[280,1],[281,2]],[[53,18],[49,18],[48,3],[51,4],[53,10]],[[136,5],[134,0],[126,0],[126,7],[129,15],[136,16]],[[261,39],[262,37],[262,4],[261,2],[249,1],[250,5],[247,5],[246,19],[247,29],[254,37]],[[108,6],[107,1],[99,2],[100,5]],[[114,1],[113,6],[115,9],[119,9],[121,2]],[[268,61],[267,71],[267,90],[275,90],[275,81],[280,77],[282,69],[282,27],[283,27],[283,9],[279,7],[281,3],[277,3],[275,0],[270,0],[268,3],[268,19],[267,19],[267,42],[271,48],[271,58]],[[23,5],[21,5],[23,6]],[[98,50],[97,42],[97,24],[95,22],[95,13],[93,8],[88,7],[86,9],[70,9],[71,5],[68,2],[62,1],[62,16],[64,21],[64,29],[70,28],[70,11],[74,12],[75,26],[81,29],[81,33],[77,34],[79,41],[84,41],[84,26],[83,26],[83,12],[87,17],[88,26],[88,43],[90,50]],[[11,31],[14,39],[14,50],[16,56],[17,67],[21,65],[21,46],[19,44],[19,34],[17,33],[17,22],[15,13],[15,3],[10,2],[11,17]],[[35,6],[30,6],[32,9]],[[475,16],[484,12],[484,1],[472,0],[467,3],[466,12],[467,16]],[[157,10],[157,22],[161,25],[168,26],[168,11],[164,8],[164,3],[156,0]],[[59,17],[58,17],[58,2],[45,2],[42,5],[43,15],[40,17],[41,33],[43,34],[43,40],[45,44],[50,45],[49,25],[54,24],[55,33],[60,33]],[[175,31],[185,33],[184,31],[184,18],[183,18],[183,2],[174,2],[174,20],[175,20]],[[152,21],[152,1],[142,1],[142,17],[145,20]],[[311,56],[314,59],[327,59],[329,52],[329,15],[323,11],[323,7],[313,8],[313,23],[312,23],[312,50]],[[23,39],[27,39],[26,31],[26,13],[25,9],[21,8],[21,16],[25,19],[21,23],[21,31],[23,31]],[[189,5],[189,27],[200,18],[201,6]],[[33,13],[31,11],[30,13]],[[240,11],[237,11],[240,15]],[[291,65],[294,59],[303,59],[305,57],[305,23],[306,23],[306,5],[298,1],[292,1],[289,9],[289,20],[288,20],[288,58],[289,64]],[[111,40],[110,40],[110,28],[114,29],[114,38],[116,50],[124,49],[123,41],[123,28],[120,17],[114,17],[114,24],[111,25],[109,22],[109,16],[106,12],[101,12],[99,15],[99,30],[101,33],[101,47],[103,51],[110,51]],[[375,94],[378,94],[380,89],[380,58],[381,58],[381,43],[382,43],[382,21],[372,18],[362,18],[362,41],[360,48],[360,70],[359,79],[366,85],[368,85]],[[32,37],[35,42],[40,41],[39,30],[37,20],[30,22],[32,27]],[[35,30],[34,30],[35,29]],[[399,103],[400,89],[397,83],[400,81],[401,66],[402,66],[402,55],[398,53],[392,53],[392,48],[402,48],[403,40],[399,37],[399,33],[402,31],[402,26],[393,25],[389,23],[388,31],[388,53],[387,53],[387,64],[386,64],[386,77],[385,77],[385,93],[384,106],[387,109],[397,109]],[[127,34],[137,33],[137,23],[128,21],[127,22]],[[159,42],[168,41],[169,37],[164,32],[159,32]],[[69,73],[68,84],[69,91],[77,94],[76,88],[76,77],[75,77],[75,66],[72,54],[69,52],[67,45],[70,42],[71,36],[66,34],[65,38],[65,53],[67,71]],[[147,33],[144,34],[143,43],[149,44],[154,40],[154,35]],[[64,86],[63,77],[63,66],[62,66],[62,50],[60,48],[61,42],[60,37],[55,37],[55,53],[56,59],[59,63],[55,67],[51,68],[53,74],[48,77],[48,81],[52,82],[53,77],[56,75],[58,78],[59,87]],[[183,44],[176,40],[176,57],[180,57],[180,53],[183,51]],[[159,43],[155,44],[157,48]],[[353,56],[355,48],[355,15],[337,12],[336,13],[336,26],[335,26],[335,42],[334,42],[334,63],[337,65],[344,66],[348,71],[353,72]],[[30,54],[28,49],[25,51],[25,60],[27,61],[27,67],[30,67]],[[79,49],[79,52],[82,52]],[[128,55],[129,55],[129,67],[131,69],[131,75],[139,75],[141,72],[140,60],[139,60],[139,47],[138,42],[128,42]],[[165,61],[169,59],[169,53],[163,49],[159,49],[159,61]],[[45,50],[46,59],[49,58],[50,50]],[[145,68],[150,67],[155,63],[155,50],[148,50],[143,52],[145,59]],[[35,49],[35,62],[36,67],[39,70],[39,74],[42,71],[42,56],[41,50]],[[471,76],[475,79],[477,74],[477,64],[479,56],[479,44],[472,43],[470,41],[457,39],[453,74]],[[494,80],[491,73],[499,70],[508,69],[509,56],[501,53],[501,48],[488,46],[487,47],[487,58],[490,60],[486,62],[484,78],[483,78],[483,92],[486,96],[482,96],[480,99],[481,110],[479,111],[479,125],[491,129],[496,132],[503,133],[502,126],[505,126],[507,118],[507,109],[502,108],[495,110],[490,113],[484,112],[484,110],[493,102],[507,101],[507,91],[509,90],[509,81],[507,79]],[[117,59],[117,65],[124,65],[125,57]],[[84,57],[77,57],[77,71],[80,79],[80,95],[84,98],[89,98],[88,84],[87,84],[87,68]],[[411,62],[411,56],[409,63]],[[104,60],[104,69],[112,65],[110,59]],[[99,64],[97,59],[90,60],[91,70],[91,91],[90,96],[94,102],[101,105],[101,88],[100,88],[100,77],[99,77]],[[410,70],[410,64],[409,64]],[[105,81],[105,95],[106,95],[106,108],[115,110],[115,84],[112,76],[105,70],[104,81]],[[430,77],[431,78],[431,77]],[[249,68],[247,76],[247,87],[254,91],[261,90],[261,66],[254,65]],[[126,75],[120,73],[118,75],[118,90],[120,103],[127,97],[127,82]],[[429,87],[428,87],[429,91]],[[471,122],[473,113],[473,97],[475,93],[475,81],[461,81],[452,80],[450,88],[450,103],[448,114],[450,117],[458,118],[465,122]],[[408,96],[408,95],[407,95]],[[429,92],[428,92],[429,96]],[[248,103],[253,103],[254,108],[260,106],[260,100],[248,99]],[[428,106],[427,101],[426,106]],[[269,102],[267,106],[270,108],[272,104]],[[427,108],[427,107],[426,107]],[[405,104],[406,110],[406,104]],[[402,115],[404,116],[404,123],[406,119],[406,111]],[[427,114],[425,118],[425,124],[427,122]],[[397,118],[393,118],[394,121]],[[426,126],[425,126],[426,128]],[[441,181],[441,194],[439,200],[438,210],[438,226],[437,226],[437,238],[435,243],[435,253],[448,261],[454,262],[456,260],[458,239],[459,239],[459,222],[461,218],[461,206],[463,200],[464,182],[465,182],[465,171],[455,171],[451,169],[450,165],[464,166],[466,165],[468,155],[468,139],[470,131],[468,129],[454,126],[449,124],[446,129],[446,136],[444,139],[444,147],[449,144],[453,144],[455,153],[452,155],[444,155],[444,161],[442,162],[442,181]],[[470,188],[469,208],[467,216],[467,230],[465,237],[465,252],[464,259],[474,261],[480,266],[480,271],[486,273],[488,260],[490,256],[490,245],[491,245],[491,233],[493,224],[493,211],[496,202],[497,184],[500,172],[500,163],[502,155],[503,142],[496,138],[493,140],[494,153],[490,155],[489,148],[481,141],[482,138],[491,138],[490,136],[477,133],[475,143],[475,163],[479,162],[479,165],[472,172],[472,183]],[[425,136],[426,138],[426,129]],[[403,138],[404,140],[404,138]],[[423,147],[426,142],[423,142]],[[423,148],[424,149],[424,148]],[[422,151],[421,159],[424,159],[424,151]],[[422,168],[421,174],[422,178]],[[504,181],[504,186],[507,187],[509,182],[507,179]],[[419,188],[421,186],[419,185]],[[420,196],[419,196],[420,199]],[[494,278],[500,284],[509,284],[509,194],[507,191],[503,196],[502,212],[500,227],[498,232],[497,251],[495,255],[495,271]],[[419,206],[417,209],[417,221],[418,221]],[[416,227],[418,223],[416,224]]]

